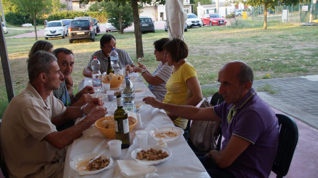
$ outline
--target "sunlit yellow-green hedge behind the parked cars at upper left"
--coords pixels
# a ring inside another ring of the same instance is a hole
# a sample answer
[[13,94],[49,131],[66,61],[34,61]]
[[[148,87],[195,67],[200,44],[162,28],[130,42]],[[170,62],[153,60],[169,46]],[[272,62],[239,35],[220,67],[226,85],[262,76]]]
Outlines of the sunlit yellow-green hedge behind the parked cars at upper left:
[[96,18],[100,22],[106,22],[106,13],[105,12],[83,12],[83,11],[61,11],[49,15],[47,18],[48,21],[60,20],[60,19],[74,19],[75,17],[82,16],[91,16]]

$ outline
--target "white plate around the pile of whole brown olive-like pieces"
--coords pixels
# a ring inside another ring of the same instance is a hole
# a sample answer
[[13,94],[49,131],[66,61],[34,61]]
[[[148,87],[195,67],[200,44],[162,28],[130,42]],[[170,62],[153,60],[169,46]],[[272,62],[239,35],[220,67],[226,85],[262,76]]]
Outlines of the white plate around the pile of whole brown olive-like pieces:
[[[164,158],[164,159],[162,159],[162,160],[157,160],[157,161],[146,161],[146,160],[136,159],[136,156],[137,156],[138,152],[140,152],[142,149],[147,151],[147,149],[150,149],[150,148],[153,148],[153,149],[156,149],[156,150],[162,149],[162,151],[167,151],[169,156]],[[162,146],[158,146],[158,145],[147,145],[147,146],[142,146],[140,148],[137,148],[137,149],[133,150],[131,152],[130,156],[131,156],[131,158],[133,158],[134,160],[136,160],[137,162],[139,162],[141,164],[156,165],[156,164],[160,164],[162,162],[167,161],[167,159],[169,159],[172,156],[172,152],[171,152],[171,150],[169,148],[166,148],[166,147],[162,147]]]

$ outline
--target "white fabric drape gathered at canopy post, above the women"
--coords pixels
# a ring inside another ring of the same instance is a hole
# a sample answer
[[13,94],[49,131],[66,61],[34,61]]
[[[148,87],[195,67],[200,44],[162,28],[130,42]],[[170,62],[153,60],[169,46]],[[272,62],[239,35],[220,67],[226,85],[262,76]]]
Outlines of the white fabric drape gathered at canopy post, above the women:
[[183,0],[166,0],[166,13],[169,38],[184,41],[184,25],[188,15],[183,10]]

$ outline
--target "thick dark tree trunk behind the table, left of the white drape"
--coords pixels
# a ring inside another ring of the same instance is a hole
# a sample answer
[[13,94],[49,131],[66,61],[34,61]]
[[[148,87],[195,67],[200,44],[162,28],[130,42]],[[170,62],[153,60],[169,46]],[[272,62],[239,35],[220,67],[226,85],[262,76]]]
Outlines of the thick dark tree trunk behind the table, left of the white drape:
[[134,26],[135,26],[135,41],[136,41],[136,57],[143,57],[142,49],[142,34],[139,22],[139,11],[138,11],[138,0],[131,0],[131,5],[133,8]]

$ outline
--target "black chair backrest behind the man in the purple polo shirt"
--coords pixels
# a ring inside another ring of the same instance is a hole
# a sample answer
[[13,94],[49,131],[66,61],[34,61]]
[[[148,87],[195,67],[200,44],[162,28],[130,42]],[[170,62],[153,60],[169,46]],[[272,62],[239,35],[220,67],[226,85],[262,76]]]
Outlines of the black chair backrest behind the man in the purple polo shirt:
[[272,171],[277,178],[287,175],[294,151],[298,142],[298,128],[295,121],[283,114],[276,114],[278,118],[279,142]]

